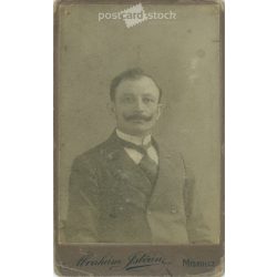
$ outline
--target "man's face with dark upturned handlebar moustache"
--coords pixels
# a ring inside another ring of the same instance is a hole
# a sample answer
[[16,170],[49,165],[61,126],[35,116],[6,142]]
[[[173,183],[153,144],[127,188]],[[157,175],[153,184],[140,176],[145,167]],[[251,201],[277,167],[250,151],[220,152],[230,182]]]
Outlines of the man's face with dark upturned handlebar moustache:
[[150,134],[161,114],[158,98],[156,84],[147,76],[122,81],[112,104],[119,130],[131,135]]

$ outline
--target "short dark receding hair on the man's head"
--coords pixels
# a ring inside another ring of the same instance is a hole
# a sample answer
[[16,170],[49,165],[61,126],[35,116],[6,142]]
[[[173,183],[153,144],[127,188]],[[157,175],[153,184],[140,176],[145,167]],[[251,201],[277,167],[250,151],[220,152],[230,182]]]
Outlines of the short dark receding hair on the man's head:
[[112,101],[115,100],[115,91],[116,91],[116,88],[120,85],[120,83],[124,80],[137,80],[137,79],[141,79],[143,76],[147,76],[150,78],[154,83],[155,85],[157,86],[158,89],[158,102],[161,102],[161,99],[162,99],[162,89],[158,86],[158,84],[156,83],[156,81],[148,74],[146,74],[142,69],[140,68],[134,68],[134,69],[129,69],[129,70],[125,70],[123,71],[122,73],[120,73],[119,75],[116,75],[112,82],[111,82],[111,86],[110,86],[110,98]]

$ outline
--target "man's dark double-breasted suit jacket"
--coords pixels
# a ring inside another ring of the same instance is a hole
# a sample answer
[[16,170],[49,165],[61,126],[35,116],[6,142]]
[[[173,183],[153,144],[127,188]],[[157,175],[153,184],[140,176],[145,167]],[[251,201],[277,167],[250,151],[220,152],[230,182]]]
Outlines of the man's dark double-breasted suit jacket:
[[208,240],[203,223],[192,216],[193,184],[181,155],[160,146],[158,176],[150,199],[142,189],[145,184],[151,185],[115,133],[76,157],[70,177],[66,242]]

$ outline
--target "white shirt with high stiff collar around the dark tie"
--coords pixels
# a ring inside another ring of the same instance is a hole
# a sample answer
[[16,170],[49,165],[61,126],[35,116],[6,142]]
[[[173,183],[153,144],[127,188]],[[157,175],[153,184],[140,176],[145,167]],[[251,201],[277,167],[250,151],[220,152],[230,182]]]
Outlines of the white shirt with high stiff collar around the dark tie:
[[[146,145],[146,144],[148,144],[151,142],[151,135],[146,135],[145,137],[140,137],[140,136],[135,136],[135,135],[125,134],[125,133],[121,132],[117,129],[116,129],[116,135],[121,140],[126,141],[126,142],[131,142],[131,143],[136,144],[138,146],[140,145]],[[141,162],[141,160],[143,158],[143,154],[140,153],[138,151],[134,150],[134,148],[124,147],[124,150],[127,153],[127,155],[134,161],[135,164],[138,164]],[[153,146],[150,146],[147,148],[147,155],[156,164],[158,164],[157,152]]]

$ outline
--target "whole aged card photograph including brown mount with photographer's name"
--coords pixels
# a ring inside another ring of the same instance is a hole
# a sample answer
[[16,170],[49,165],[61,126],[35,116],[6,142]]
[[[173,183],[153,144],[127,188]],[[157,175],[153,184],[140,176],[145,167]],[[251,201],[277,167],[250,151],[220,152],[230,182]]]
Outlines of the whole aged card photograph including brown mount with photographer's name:
[[54,3],[59,276],[224,273],[224,6]]

